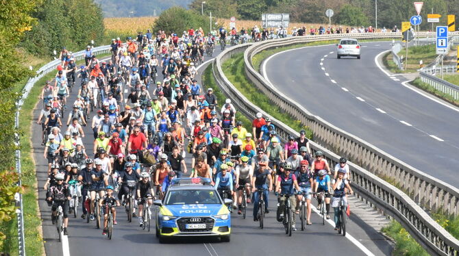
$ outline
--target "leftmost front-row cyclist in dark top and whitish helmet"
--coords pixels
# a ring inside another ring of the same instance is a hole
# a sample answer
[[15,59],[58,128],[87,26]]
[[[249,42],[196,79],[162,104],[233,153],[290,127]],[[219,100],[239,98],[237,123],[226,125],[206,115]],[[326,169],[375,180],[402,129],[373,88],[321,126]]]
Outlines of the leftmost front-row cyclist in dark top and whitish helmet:
[[58,173],[54,176],[56,180],[55,185],[51,185],[47,192],[47,201],[52,202],[51,207],[51,221],[53,224],[56,222],[56,210],[59,206],[62,207],[62,213],[64,217],[64,222],[62,227],[64,227],[64,235],[69,235],[67,231],[67,225],[69,225],[69,201],[71,200],[71,194],[69,190],[69,185],[64,182],[64,173]]

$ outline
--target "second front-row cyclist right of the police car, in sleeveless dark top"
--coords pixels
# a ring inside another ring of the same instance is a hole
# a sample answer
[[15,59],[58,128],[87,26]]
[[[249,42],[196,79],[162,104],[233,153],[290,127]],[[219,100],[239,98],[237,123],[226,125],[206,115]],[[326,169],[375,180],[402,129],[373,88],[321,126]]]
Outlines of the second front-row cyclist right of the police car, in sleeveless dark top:
[[[275,183],[275,187],[277,188],[277,193],[280,194],[280,204],[279,204],[279,207],[277,208],[277,214],[279,216],[278,219],[282,219],[284,216],[284,207],[285,207],[285,200],[286,200],[286,196],[290,196],[288,199],[290,200],[290,206],[292,207],[292,211],[293,209],[296,209],[296,201],[295,201],[295,196],[293,196],[294,194],[294,188],[295,190],[299,191],[300,188],[298,186],[298,182],[297,182],[297,177],[295,176],[295,174],[293,174],[291,172],[292,170],[292,166],[290,166],[290,164],[286,164],[285,166],[285,170],[284,170],[284,173],[282,175],[279,175],[279,177],[277,177],[277,181]],[[292,230],[293,231],[296,231],[297,228],[295,228],[295,213],[293,212],[292,213]]]

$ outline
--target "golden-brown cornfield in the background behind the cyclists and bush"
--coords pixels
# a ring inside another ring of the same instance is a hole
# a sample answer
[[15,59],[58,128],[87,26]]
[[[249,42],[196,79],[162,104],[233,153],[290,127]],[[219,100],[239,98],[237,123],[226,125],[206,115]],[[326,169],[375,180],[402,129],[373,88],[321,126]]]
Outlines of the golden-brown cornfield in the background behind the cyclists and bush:
[[[151,28],[154,21],[158,17],[153,16],[146,16],[146,17],[134,17],[134,18],[104,18],[103,23],[106,26],[107,34],[131,34],[135,35],[138,31],[147,31],[147,29]],[[213,21],[212,23],[214,23]],[[217,18],[216,22],[219,24],[223,24],[225,27],[229,28],[229,18]],[[261,21],[238,21],[236,20],[236,29],[240,30],[241,28],[249,28],[255,27],[262,27]],[[293,27],[306,27],[306,29],[310,29],[311,27],[319,28],[321,26],[327,27],[328,24],[317,24],[317,23],[290,23],[290,27],[288,27],[288,34],[291,34]],[[334,27],[338,27],[338,25],[332,25]],[[347,26],[343,26],[344,28]],[[207,31],[207,27],[203,27],[204,31]]]

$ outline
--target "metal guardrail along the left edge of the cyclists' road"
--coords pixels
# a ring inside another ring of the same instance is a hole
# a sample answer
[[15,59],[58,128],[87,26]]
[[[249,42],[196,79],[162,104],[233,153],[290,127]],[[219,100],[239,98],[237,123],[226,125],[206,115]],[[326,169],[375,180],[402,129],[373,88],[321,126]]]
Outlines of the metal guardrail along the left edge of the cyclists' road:
[[[92,49],[92,53],[95,54],[103,54],[103,53],[110,53],[110,45],[105,45],[101,47],[95,47]],[[83,60],[84,59],[84,51],[78,51],[77,53],[73,53],[76,60]],[[52,62],[48,62],[47,64],[43,65],[41,68],[36,71],[36,76],[29,78],[27,83],[23,88],[23,95],[21,99],[19,99],[16,105],[16,119],[14,121],[14,125],[16,130],[19,129],[19,114],[21,112],[21,107],[23,106],[24,100],[27,99],[29,96],[30,90],[34,87],[35,83],[40,80],[43,76],[47,73],[55,71],[57,66],[61,64],[60,60],[53,60]],[[16,146],[19,146],[19,136],[16,135]],[[16,171],[19,174],[19,183],[21,185],[21,150],[16,150]],[[23,216],[23,196],[22,194],[16,194],[15,196],[16,203],[18,203],[18,209],[16,210],[16,215],[18,219],[18,246],[19,246],[19,255],[25,256],[25,239],[24,239],[24,216]]]

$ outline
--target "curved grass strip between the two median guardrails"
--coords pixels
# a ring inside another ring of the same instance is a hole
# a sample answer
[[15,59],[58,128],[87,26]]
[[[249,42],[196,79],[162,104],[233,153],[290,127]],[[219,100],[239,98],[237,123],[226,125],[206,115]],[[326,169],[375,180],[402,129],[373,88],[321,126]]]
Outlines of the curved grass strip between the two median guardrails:
[[[231,81],[236,89],[238,89],[239,92],[242,92],[251,103],[257,105],[266,113],[270,114],[277,120],[280,120],[282,123],[288,124],[288,126],[290,126],[295,131],[305,129],[306,137],[312,139],[312,131],[309,129],[309,127],[303,126],[300,120],[295,120],[295,118],[286,114],[280,107],[269,100],[266,95],[260,93],[258,88],[251,84],[249,79],[245,77],[243,54],[244,53],[238,53],[231,59],[223,62],[223,73],[225,73],[229,81]],[[251,125],[249,127],[251,127]]]

